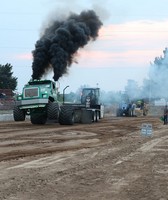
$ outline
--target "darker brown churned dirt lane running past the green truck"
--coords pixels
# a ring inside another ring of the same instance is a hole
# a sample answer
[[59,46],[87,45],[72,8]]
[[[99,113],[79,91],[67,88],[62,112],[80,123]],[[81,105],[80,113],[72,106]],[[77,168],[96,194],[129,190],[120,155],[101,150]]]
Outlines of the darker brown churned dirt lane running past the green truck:
[[[127,124],[130,120],[134,123]],[[53,123],[34,126],[29,121],[1,123],[0,161],[89,148],[93,146],[93,143],[100,144],[114,137],[122,137],[139,130],[139,122],[143,120],[146,119],[136,118],[135,123],[132,118],[106,118],[98,123],[75,124],[74,126]],[[3,128],[5,128],[5,133],[2,132]],[[83,130],[83,134],[80,130]]]

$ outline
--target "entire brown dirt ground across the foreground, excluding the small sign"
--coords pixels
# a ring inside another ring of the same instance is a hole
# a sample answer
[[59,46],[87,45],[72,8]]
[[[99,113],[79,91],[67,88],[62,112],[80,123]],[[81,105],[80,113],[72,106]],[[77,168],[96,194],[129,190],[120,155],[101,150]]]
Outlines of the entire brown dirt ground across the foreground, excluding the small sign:
[[[142,123],[152,136],[141,135]],[[167,200],[167,129],[158,117],[0,122],[0,199]]]

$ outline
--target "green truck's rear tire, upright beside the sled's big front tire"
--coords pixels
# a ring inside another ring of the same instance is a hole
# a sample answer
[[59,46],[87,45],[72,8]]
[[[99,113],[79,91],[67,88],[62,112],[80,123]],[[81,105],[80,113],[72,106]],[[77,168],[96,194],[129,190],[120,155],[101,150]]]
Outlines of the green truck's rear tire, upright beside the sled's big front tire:
[[48,119],[57,120],[59,117],[59,105],[58,103],[50,102],[47,106]]

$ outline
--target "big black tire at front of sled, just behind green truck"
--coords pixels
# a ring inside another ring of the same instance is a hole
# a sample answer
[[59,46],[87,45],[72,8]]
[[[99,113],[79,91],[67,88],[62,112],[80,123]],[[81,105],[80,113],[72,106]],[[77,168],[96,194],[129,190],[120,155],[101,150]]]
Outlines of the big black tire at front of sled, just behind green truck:
[[74,124],[74,110],[72,106],[61,106],[61,111],[59,114],[59,123],[61,125]]

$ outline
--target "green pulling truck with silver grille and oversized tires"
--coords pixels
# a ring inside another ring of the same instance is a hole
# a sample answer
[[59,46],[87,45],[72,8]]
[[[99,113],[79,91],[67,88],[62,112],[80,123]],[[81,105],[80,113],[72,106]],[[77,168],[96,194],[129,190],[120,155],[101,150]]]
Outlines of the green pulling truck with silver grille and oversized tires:
[[22,94],[16,96],[13,117],[24,121],[30,115],[32,124],[45,124],[47,119],[58,120],[60,105],[56,83],[51,80],[29,81]]

